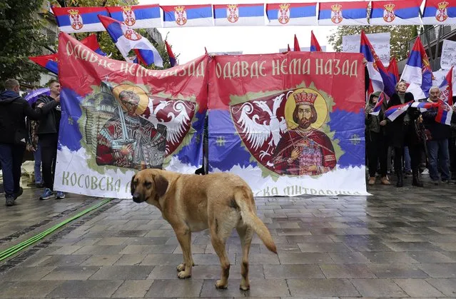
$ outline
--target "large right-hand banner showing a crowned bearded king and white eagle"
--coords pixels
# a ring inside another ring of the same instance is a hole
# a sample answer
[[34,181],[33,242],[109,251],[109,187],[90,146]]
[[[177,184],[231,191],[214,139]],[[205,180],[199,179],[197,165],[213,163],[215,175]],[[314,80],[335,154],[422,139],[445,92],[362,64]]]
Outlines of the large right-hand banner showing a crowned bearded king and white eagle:
[[210,170],[255,196],[368,194],[362,54],[215,56]]

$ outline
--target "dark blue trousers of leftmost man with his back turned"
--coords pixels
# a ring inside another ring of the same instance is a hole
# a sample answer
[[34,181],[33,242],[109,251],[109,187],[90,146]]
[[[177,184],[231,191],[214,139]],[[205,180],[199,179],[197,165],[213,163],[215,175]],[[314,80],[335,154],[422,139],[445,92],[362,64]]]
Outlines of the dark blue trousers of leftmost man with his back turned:
[[25,146],[0,143],[0,164],[3,173],[5,197],[14,197],[21,187],[21,166]]

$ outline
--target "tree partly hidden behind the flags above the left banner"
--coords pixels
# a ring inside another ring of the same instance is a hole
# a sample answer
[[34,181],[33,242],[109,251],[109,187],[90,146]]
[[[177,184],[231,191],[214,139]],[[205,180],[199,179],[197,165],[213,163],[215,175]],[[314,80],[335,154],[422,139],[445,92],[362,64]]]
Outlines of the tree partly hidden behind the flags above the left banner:
[[[61,6],[61,7],[77,7],[77,6],[119,6],[119,5],[126,5],[125,0],[54,0],[54,4]],[[138,4],[138,0],[129,1],[128,5],[135,5]],[[158,53],[160,53],[161,58],[163,59],[163,69],[168,69],[171,67],[169,63],[168,54],[166,52],[166,47],[164,44],[157,44],[151,36],[146,32],[145,29],[136,29],[136,31],[141,34],[142,36],[146,37],[153,46],[156,47]],[[78,40],[86,38],[89,33],[83,34],[74,34]],[[105,52],[106,54],[111,54],[111,59],[117,59],[123,61],[122,54],[118,51],[116,45],[113,43],[111,37],[106,33],[97,32],[96,37],[98,39],[98,44],[100,44],[100,49]],[[133,53],[132,53],[133,55]],[[151,65],[147,67],[148,69],[162,69],[158,66]]]

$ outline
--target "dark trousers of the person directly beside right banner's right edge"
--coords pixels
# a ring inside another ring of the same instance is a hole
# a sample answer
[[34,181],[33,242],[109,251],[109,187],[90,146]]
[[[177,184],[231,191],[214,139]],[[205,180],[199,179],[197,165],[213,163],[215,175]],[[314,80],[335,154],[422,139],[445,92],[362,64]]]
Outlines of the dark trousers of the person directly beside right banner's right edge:
[[369,176],[375,177],[378,163],[380,163],[380,176],[386,176],[388,146],[382,133],[369,131],[366,136],[366,148],[368,149]]

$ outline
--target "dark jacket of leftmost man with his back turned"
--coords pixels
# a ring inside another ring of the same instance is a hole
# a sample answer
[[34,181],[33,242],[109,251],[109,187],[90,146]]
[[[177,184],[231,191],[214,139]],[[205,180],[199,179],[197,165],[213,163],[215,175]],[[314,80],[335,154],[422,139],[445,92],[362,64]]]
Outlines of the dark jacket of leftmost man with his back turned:
[[[0,143],[16,143],[18,134],[26,138],[25,118],[38,120],[41,115],[49,113],[56,103],[49,103],[41,108],[33,109],[29,103],[14,91],[0,93]],[[25,145],[25,143],[24,143]]]

